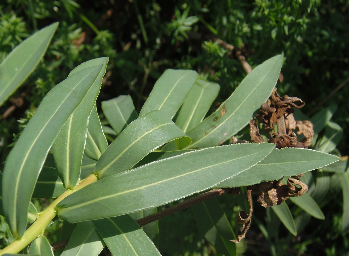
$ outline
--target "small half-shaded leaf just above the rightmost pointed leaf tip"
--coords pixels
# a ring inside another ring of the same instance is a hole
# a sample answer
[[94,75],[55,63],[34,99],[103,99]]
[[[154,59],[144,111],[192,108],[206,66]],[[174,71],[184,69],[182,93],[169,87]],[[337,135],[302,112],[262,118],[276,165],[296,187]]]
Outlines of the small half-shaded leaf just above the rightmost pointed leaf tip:
[[343,129],[334,122],[328,122],[324,136],[317,143],[316,149],[325,153],[332,152],[343,136]]

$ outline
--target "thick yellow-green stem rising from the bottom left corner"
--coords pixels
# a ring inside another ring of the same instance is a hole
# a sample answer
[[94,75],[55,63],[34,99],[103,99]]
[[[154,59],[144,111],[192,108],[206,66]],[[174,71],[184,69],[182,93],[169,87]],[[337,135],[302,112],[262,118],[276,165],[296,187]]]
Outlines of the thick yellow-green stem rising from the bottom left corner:
[[3,255],[5,253],[19,253],[24,247],[29,245],[31,241],[33,241],[35,238],[37,238],[39,235],[43,234],[45,231],[45,228],[51,220],[57,215],[57,210],[55,209],[56,205],[62,201],[65,197],[67,197],[70,194],[73,194],[75,191],[78,191],[79,189],[94,183],[97,181],[98,178],[95,174],[90,174],[86,179],[82,180],[79,185],[77,185],[74,189],[67,190],[63,194],[61,194],[59,197],[57,197],[56,200],[54,200],[49,207],[47,207],[45,210],[40,212],[37,220],[25,231],[22,238],[17,238],[15,241],[10,243],[7,247],[2,249],[0,251],[0,255]]

